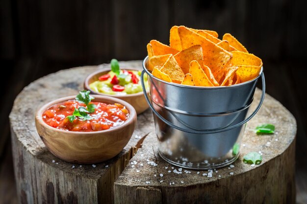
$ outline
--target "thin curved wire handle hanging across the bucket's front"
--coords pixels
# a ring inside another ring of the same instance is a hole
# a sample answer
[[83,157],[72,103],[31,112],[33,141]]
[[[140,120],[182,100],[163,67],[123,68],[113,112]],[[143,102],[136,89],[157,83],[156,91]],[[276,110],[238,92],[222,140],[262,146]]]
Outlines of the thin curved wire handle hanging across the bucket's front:
[[197,130],[189,130],[189,129],[184,129],[184,128],[180,128],[174,124],[172,124],[171,122],[169,122],[168,120],[166,120],[164,117],[162,117],[156,110],[154,110],[152,103],[150,102],[147,92],[146,92],[146,88],[145,88],[145,83],[144,83],[144,74],[145,74],[145,70],[142,71],[141,73],[141,84],[142,84],[142,88],[143,88],[143,92],[144,92],[144,96],[145,99],[147,101],[147,103],[149,104],[149,107],[151,108],[151,110],[153,111],[153,113],[160,119],[162,120],[164,123],[166,123],[167,125],[171,126],[174,129],[183,131],[183,132],[187,132],[187,133],[191,133],[191,134],[214,134],[214,133],[221,133],[221,132],[225,132],[225,131],[229,131],[232,130],[234,128],[237,128],[241,125],[243,125],[244,123],[248,122],[250,119],[252,119],[252,117],[255,116],[255,114],[259,111],[263,100],[264,100],[264,95],[265,95],[265,78],[264,78],[264,73],[261,73],[261,79],[262,79],[262,93],[261,93],[261,97],[260,97],[260,101],[258,106],[256,107],[255,111],[248,116],[245,120],[243,120],[242,122],[233,125],[233,126],[227,126],[227,127],[223,127],[220,129],[214,129],[214,130],[203,130],[203,131],[197,131]]

